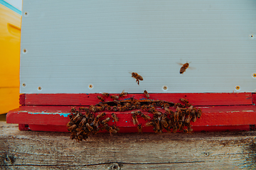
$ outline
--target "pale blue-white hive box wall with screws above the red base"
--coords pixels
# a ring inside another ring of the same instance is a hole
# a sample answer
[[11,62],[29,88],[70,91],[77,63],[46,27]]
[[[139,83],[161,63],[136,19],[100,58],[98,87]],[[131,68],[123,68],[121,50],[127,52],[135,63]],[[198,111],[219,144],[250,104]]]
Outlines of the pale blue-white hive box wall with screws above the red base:
[[255,18],[247,0],[23,0],[21,94],[255,92]]

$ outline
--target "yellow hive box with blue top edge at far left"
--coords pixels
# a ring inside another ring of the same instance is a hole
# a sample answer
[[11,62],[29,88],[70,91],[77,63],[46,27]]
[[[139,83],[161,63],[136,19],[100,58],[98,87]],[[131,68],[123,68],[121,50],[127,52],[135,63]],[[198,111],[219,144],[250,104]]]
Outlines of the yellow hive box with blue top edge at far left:
[[21,11],[0,0],[0,114],[18,108]]

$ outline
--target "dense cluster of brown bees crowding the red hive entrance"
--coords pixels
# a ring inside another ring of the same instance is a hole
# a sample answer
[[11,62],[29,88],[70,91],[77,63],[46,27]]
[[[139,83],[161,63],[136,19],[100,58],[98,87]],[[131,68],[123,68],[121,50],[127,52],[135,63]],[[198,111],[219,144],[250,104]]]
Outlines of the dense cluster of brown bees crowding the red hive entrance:
[[[200,108],[193,107],[188,100],[181,98],[181,103],[173,103],[161,100],[137,100],[133,97],[124,98],[127,93],[122,91],[119,96],[103,93],[102,96],[97,96],[100,103],[90,107],[80,107],[77,111],[71,109],[69,115],[70,122],[67,127],[71,132],[71,139],[82,141],[86,140],[90,134],[97,134],[100,130],[117,133],[119,128],[116,123],[119,118],[116,112],[131,112],[131,121],[137,126],[138,132],[142,133],[142,123],[139,123],[137,118],[146,120],[144,126],[152,127],[154,132],[161,133],[163,130],[167,132],[192,132],[191,121],[196,122],[197,118],[201,118],[202,111]],[[144,91],[144,96],[149,98],[147,91]],[[112,98],[111,101],[105,101],[106,98]],[[111,113],[111,117],[107,118],[106,113]],[[148,115],[149,114],[149,115]],[[112,121],[110,121],[112,120]],[[110,125],[114,122],[114,125]]]

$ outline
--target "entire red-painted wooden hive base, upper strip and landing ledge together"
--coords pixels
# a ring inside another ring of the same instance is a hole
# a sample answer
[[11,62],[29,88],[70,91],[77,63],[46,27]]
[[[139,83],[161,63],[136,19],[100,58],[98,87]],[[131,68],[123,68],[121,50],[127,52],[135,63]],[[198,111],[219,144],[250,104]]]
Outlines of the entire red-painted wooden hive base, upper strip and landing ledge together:
[[[112,94],[110,94],[111,96]],[[115,94],[119,95],[119,94]],[[256,95],[251,93],[206,93],[206,94],[149,94],[151,100],[180,102],[180,98],[188,99],[189,103],[201,108],[203,115],[196,123],[191,123],[193,132],[250,130],[250,125],[256,125]],[[22,106],[9,111],[7,123],[19,124],[20,130],[68,132],[68,114],[73,106],[90,106],[100,103],[97,96],[101,94],[21,94]],[[125,100],[133,97],[137,100],[146,99],[144,94],[128,94]],[[110,97],[105,101],[112,101]],[[172,108],[173,111],[174,108]],[[107,112],[107,117],[111,117]],[[152,118],[151,113],[147,113]],[[98,113],[97,113],[98,114]],[[137,132],[137,126],[132,123],[131,111],[116,113],[119,122],[119,132]],[[153,132],[152,127],[145,127],[146,121],[138,118],[142,123],[143,132]],[[112,123],[110,123],[112,125]]]

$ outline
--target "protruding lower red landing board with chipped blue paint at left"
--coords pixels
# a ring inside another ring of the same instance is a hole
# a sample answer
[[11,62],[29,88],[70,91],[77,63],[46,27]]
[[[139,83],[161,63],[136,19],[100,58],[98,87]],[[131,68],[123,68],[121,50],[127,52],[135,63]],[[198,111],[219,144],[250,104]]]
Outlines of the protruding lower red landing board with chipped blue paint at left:
[[[70,106],[21,106],[6,115],[6,122],[27,125],[65,126],[69,121],[68,114],[70,113],[70,109]],[[205,130],[203,127],[209,126],[256,124],[256,106],[208,106],[201,107],[201,110],[203,112],[201,118],[198,118],[195,123],[191,123],[192,127],[201,127],[198,128],[199,131]],[[106,118],[111,118],[111,113],[113,112],[105,111],[105,113]],[[153,117],[152,113],[142,113],[148,114],[151,118]],[[99,113],[96,113],[96,115],[97,114]],[[129,132],[137,132],[137,126],[132,123],[131,111],[117,112],[116,114],[119,118],[116,125],[119,128],[134,128]],[[142,123],[142,127],[145,128],[146,120],[138,118],[138,121]],[[110,121],[110,125],[112,125],[113,122],[114,121]],[[64,130],[63,128],[60,129],[60,131]],[[247,130],[249,129],[247,128]],[[146,132],[151,132],[151,130],[146,130]]]

